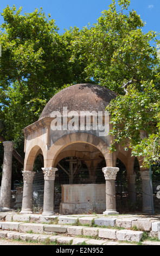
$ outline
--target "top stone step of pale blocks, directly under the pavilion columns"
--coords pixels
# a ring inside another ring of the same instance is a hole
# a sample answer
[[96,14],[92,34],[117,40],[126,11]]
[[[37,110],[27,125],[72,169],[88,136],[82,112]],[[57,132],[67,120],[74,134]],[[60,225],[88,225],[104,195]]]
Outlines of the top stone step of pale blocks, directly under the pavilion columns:
[[5,221],[34,222],[34,223],[55,223],[62,225],[95,225],[105,227],[118,227],[131,229],[133,227],[143,231],[153,231],[158,233],[160,227],[159,218],[140,218],[140,217],[103,217],[103,216],[42,216],[42,215],[18,215],[9,214],[5,216]]

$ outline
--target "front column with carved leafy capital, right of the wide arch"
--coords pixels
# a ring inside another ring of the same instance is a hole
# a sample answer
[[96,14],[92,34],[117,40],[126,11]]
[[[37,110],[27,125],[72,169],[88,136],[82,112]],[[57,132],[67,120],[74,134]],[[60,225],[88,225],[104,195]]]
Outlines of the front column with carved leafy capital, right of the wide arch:
[[117,167],[104,167],[103,173],[106,180],[106,211],[103,214],[118,214],[116,211],[116,186],[115,180],[119,168]]

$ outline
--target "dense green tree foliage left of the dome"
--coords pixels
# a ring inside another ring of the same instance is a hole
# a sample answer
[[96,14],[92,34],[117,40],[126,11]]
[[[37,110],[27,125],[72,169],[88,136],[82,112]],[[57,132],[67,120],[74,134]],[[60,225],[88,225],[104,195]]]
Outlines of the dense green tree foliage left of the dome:
[[1,134],[16,140],[37,121],[49,99],[64,84],[81,82],[82,66],[71,62],[71,40],[78,29],[59,35],[42,9],[21,15],[22,8],[3,10],[0,72]]

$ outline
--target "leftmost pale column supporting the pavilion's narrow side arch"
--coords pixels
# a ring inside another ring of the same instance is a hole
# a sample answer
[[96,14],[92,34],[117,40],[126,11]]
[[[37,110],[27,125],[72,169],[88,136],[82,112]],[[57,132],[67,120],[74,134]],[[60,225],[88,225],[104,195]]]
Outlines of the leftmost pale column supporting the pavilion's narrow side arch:
[[23,170],[23,199],[20,214],[32,214],[33,179],[35,172]]

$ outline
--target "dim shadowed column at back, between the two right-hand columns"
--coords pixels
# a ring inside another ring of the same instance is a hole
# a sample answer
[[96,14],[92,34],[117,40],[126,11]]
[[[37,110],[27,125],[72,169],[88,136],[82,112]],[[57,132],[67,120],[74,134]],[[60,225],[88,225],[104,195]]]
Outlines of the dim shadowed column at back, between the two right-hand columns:
[[133,205],[136,203],[136,186],[135,186],[136,174],[127,174],[128,182],[128,193],[130,204]]

